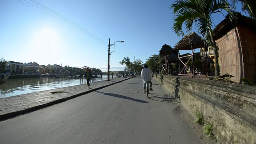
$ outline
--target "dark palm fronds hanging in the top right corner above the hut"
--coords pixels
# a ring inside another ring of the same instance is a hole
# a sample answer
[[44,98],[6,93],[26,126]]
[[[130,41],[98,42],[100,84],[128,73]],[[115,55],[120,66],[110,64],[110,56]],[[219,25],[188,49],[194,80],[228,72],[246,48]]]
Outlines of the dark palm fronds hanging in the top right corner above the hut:
[[248,12],[251,18],[256,20],[256,2],[255,0],[232,0],[232,4],[235,6],[235,3],[240,1],[242,4],[242,11]]

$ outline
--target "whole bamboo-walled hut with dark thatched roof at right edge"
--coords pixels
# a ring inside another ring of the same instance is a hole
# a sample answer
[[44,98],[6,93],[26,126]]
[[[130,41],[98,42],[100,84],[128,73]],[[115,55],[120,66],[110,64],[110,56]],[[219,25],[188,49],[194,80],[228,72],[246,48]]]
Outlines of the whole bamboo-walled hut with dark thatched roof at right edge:
[[226,18],[213,30],[219,47],[220,73],[235,76],[231,80],[242,82],[243,78],[256,82],[256,21],[236,14],[236,23]]

